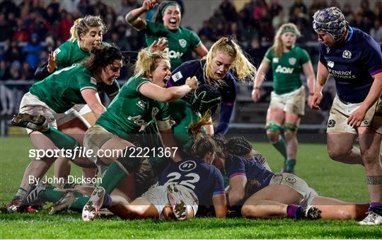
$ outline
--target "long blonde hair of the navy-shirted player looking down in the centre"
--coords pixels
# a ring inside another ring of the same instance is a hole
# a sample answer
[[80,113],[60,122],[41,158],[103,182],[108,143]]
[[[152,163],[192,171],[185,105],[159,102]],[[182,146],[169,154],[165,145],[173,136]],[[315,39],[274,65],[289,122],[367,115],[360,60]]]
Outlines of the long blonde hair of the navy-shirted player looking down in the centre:
[[[255,79],[256,68],[253,66],[253,64],[250,63],[247,57],[245,57],[241,47],[232,38],[224,37],[215,42],[207,54],[207,62],[204,70],[204,80],[207,81],[208,84],[216,82],[216,80],[212,78],[212,76],[214,76],[214,72],[212,70],[212,59],[218,52],[222,52],[228,57],[232,57],[233,62],[231,69],[235,69],[236,79],[238,79],[238,81],[244,82],[245,79],[250,79],[253,81],[253,79]],[[220,79],[217,81],[217,84],[221,85],[224,83]]]

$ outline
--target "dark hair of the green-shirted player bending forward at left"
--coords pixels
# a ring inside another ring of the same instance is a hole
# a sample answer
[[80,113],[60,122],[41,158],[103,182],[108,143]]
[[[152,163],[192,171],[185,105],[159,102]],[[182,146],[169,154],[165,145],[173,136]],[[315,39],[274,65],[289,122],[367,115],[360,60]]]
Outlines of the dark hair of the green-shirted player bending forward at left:
[[82,62],[90,72],[95,72],[100,67],[106,67],[115,60],[123,60],[124,57],[119,47],[115,45],[96,45],[91,48],[90,56]]

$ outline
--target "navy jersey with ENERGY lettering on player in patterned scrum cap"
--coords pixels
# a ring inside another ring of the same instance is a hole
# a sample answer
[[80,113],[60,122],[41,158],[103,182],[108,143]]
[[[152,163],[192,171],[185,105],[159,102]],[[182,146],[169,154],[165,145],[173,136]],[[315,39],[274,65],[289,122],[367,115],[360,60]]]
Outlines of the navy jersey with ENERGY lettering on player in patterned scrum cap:
[[369,93],[373,76],[382,72],[381,46],[358,28],[348,28],[343,42],[332,47],[320,42],[320,62],[335,79],[340,99],[361,103]]

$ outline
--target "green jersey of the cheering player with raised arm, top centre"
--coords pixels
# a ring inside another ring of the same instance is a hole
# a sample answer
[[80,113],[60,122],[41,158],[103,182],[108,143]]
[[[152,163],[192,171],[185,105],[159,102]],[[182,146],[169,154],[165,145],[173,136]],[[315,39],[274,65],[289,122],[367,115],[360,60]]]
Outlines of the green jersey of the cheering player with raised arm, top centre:
[[186,28],[178,28],[178,30],[169,30],[165,28],[163,23],[146,22],[146,28],[143,29],[146,34],[147,46],[154,41],[158,42],[159,38],[165,37],[168,40],[166,52],[170,57],[171,71],[183,62],[186,62],[187,51],[195,49],[202,43],[199,36]]

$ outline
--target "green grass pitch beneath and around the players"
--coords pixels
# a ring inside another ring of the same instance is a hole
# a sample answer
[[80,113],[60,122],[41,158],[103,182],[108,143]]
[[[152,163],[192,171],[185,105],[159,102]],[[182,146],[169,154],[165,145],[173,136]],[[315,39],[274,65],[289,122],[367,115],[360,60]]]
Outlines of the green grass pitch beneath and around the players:
[[[255,143],[272,170],[282,168],[281,156],[268,143]],[[0,138],[0,202],[16,192],[30,159],[26,137]],[[72,174],[80,174],[72,166]],[[368,202],[364,169],[328,158],[324,144],[300,144],[296,174],[323,196]],[[48,173],[52,176],[52,169]],[[291,219],[214,219],[185,222],[122,221],[117,217],[82,222],[78,213],[47,215],[0,214],[1,239],[381,239],[381,226],[359,226],[355,221],[294,221]]]

